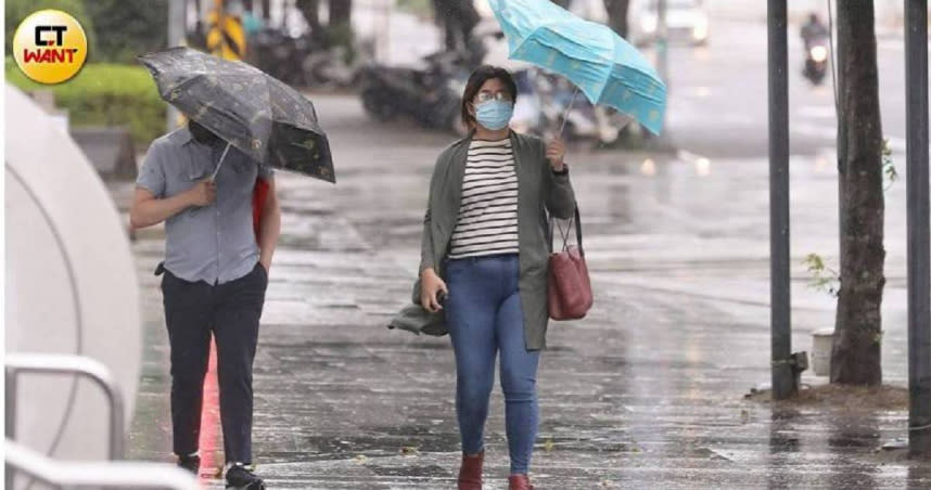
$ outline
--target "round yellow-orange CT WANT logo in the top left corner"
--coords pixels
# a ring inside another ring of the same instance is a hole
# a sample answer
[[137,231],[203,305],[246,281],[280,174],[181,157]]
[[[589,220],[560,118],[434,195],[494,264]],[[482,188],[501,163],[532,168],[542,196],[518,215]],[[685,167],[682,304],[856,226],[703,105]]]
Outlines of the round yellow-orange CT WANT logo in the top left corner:
[[33,80],[61,83],[77,75],[87,61],[87,35],[69,14],[40,10],[16,28],[13,57]]

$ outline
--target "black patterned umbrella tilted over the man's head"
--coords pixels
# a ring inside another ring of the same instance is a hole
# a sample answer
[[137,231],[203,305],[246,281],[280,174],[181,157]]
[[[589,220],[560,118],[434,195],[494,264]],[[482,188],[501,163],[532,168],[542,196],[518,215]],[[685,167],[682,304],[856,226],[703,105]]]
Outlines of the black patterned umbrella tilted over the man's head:
[[139,56],[158,92],[257,162],[336,182],[330,143],[307,98],[242,62],[171,48]]

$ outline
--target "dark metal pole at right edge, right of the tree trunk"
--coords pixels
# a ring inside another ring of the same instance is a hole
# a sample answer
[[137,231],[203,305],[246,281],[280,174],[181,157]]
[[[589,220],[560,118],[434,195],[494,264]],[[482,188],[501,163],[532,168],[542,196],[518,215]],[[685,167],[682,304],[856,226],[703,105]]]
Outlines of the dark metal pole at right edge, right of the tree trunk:
[[928,0],[905,0],[908,202],[908,452],[931,459],[931,240],[928,194]]

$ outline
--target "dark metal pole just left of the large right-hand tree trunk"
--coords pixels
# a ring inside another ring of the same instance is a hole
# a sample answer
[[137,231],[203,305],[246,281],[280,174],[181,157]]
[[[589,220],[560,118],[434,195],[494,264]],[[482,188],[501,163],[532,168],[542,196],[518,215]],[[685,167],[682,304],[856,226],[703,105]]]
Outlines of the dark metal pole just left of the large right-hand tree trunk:
[[769,265],[773,399],[796,392],[791,364],[789,275],[789,38],[787,0],[768,0],[769,31]]

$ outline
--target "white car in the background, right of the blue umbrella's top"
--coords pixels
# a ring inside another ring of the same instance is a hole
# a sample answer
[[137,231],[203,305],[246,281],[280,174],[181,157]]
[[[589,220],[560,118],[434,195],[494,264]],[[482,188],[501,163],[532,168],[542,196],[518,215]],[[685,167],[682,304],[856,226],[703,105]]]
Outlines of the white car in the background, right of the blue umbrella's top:
[[[656,41],[659,0],[632,0],[628,39],[643,47]],[[701,0],[666,0],[666,33],[671,43],[704,46],[709,38],[707,12]]]

